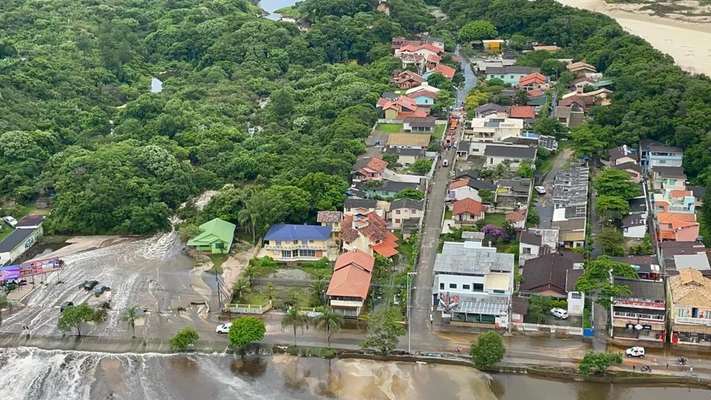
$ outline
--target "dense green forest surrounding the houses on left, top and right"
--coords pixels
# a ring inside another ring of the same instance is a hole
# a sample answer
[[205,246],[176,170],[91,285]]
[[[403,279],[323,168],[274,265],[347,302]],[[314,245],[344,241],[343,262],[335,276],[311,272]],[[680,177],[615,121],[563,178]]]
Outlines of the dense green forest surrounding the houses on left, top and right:
[[599,149],[678,145],[689,177],[711,184],[711,81],[608,17],[552,0],[427,0],[449,16],[437,21],[422,0],[388,3],[390,16],[375,0],[306,0],[304,32],[247,0],[1,2],[0,197],[55,194],[47,228],[58,233],[164,229],[183,201],[225,184],[199,219],[257,234],[310,221],[342,206],[399,65],[390,38],[427,32],[451,51],[476,19],[565,47],[522,62],[585,58],[614,78],[613,105],[573,135]]

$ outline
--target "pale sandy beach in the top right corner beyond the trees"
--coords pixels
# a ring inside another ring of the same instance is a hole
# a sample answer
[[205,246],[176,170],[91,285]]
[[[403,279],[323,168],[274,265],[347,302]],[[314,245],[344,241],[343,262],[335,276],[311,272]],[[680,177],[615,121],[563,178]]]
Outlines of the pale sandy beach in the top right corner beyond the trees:
[[685,70],[711,75],[711,24],[651,16],[632,9],[638,6],[606,4],[604,0],[557,1],[611,16],[625,31],[669,54]]

